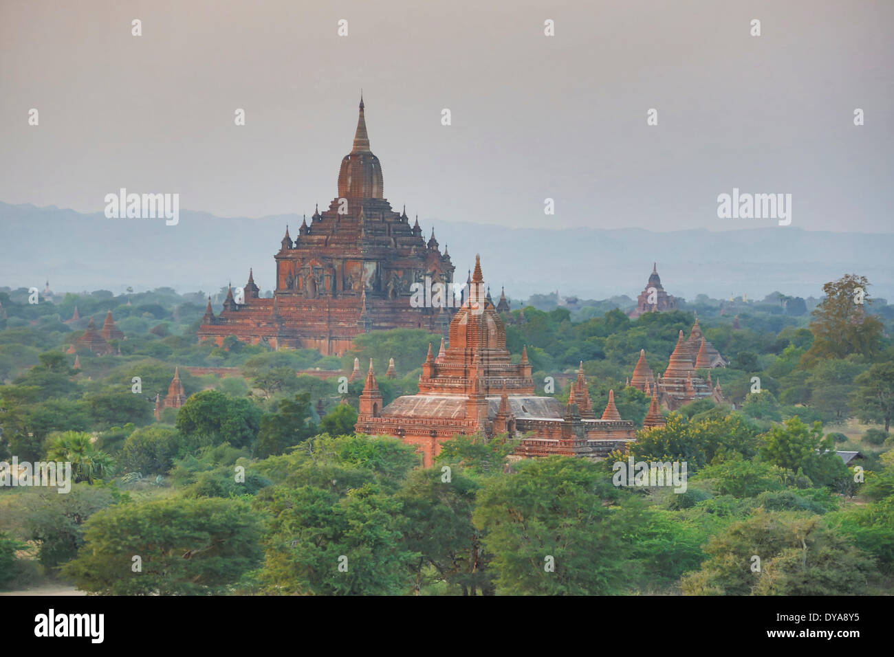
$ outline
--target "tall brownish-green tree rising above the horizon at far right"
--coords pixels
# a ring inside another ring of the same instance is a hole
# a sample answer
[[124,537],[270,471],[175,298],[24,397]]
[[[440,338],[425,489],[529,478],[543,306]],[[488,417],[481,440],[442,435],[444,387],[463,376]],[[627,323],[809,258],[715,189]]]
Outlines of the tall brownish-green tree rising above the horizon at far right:
[[823,358],[845,358],[863,354],[872,358],[881,348],[881,320],[867,313],[869,281],[865,276],[846,274],[822,286],[825,297],[814,308],[810,330],[814,343],[802,358],[812,365]]

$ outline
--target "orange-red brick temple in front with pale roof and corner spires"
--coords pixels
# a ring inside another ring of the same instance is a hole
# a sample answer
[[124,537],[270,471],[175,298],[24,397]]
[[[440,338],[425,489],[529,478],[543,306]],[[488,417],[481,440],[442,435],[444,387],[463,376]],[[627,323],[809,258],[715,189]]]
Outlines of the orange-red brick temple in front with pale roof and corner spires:
[[383,408],[373,363],[360,395],[356,429],[364,434],[399,436],[417,447],[430,466],[441,442],[457,434],[516,439],[516,454],[540,457],[565,454],[595,458],[627,450],[635,428],[623,420],[614,393],[596,418],[586,390],[583,367],[572,385],[569,403],[536,395],[527,348],[519,365],[506,350],[506,328],[493,303],[486,300],[481,263],[476,257],[468,299],[450,324],[449,344],[435,358],[432,346],[422,366],[419,392]]

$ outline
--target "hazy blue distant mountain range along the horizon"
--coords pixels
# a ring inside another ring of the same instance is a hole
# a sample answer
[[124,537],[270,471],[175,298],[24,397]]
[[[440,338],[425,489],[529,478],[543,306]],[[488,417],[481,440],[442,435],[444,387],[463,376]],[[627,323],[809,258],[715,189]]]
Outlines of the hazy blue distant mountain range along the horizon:
[[[261,291],[274,287],[274,253],[286,224],[295,236],[299,215],[217,217],[181,210],[164,219],[106,219],[55,206],[0,202],[0,287],[38,287],[48,279],[63,291],[124,291],[173,287],[217,291],[243,284],[249,266]],[[730,293],[763,299],[772,291],[808,297],[843,274],[863,274],[874,297],[894,299],[894,233],[805,231],[790,226],[710,232],[650,232],[638,228],[511,229],[489,223],[421,219],[426,240],[434,225],[465,281],[480,253],[494,296],[513,299],[558,290],[562,297],[636,298],[653,262],[664,289],[687,299]]]

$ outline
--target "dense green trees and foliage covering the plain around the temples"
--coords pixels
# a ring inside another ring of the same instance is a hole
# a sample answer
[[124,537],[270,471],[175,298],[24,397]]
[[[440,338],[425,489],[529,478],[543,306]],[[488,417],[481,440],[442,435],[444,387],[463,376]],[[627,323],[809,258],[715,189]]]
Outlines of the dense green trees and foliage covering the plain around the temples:
[[[848,274],[822,299],[739,300],[740,328],[702,297],[632,320],[623,299],[544,295],[507,317],[540,394],[567,401],[556,382],[582,364],[597,415],[613,390],[638,426],[639,350],[662,371],[697,309],[730,360],[711,375],[733,406],[666,413],[629,453],[686,462],[682,490],[618,485],[628,454],[518,460],[511,439],[456,437],[423,468],[399,440],[354,434],[369,359],[386,404],[415,393],[440,343],[425,331],[361,334],[333,358],[197,343],[201,293],[32,306],[0,291],[0,461],[72,464],[70,493],[0,487],[0,586],[28,573],[97,594],[890,593],[894,313],[867,289]],[[121,353],[67,353],[107,308]],[[188,400],[156,420],[177,366]],[[859,453],[846,465],[837,451]]]

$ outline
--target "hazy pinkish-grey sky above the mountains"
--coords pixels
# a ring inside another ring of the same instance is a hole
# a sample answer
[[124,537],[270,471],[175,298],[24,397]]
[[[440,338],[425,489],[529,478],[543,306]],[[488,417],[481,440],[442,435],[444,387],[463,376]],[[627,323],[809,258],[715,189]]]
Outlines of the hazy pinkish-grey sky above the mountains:
[[792,194],[808,230],[891,232],[892,25],[890,0],[0,0],[0,200],[309,215],[362,87],[385,196],[426,225],[776,223],[718,219],[738,187]]

